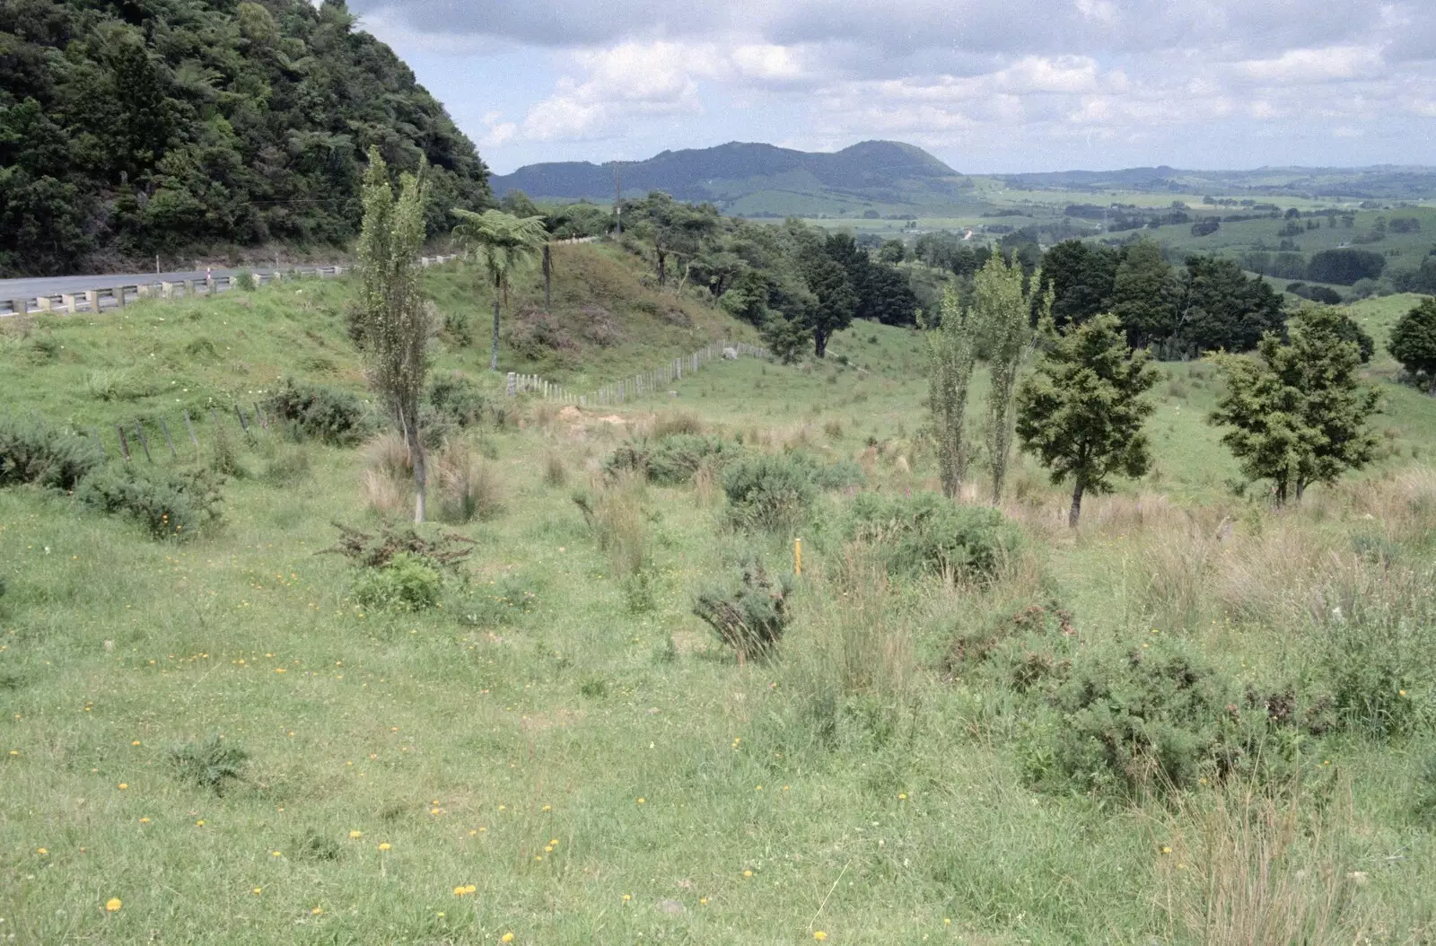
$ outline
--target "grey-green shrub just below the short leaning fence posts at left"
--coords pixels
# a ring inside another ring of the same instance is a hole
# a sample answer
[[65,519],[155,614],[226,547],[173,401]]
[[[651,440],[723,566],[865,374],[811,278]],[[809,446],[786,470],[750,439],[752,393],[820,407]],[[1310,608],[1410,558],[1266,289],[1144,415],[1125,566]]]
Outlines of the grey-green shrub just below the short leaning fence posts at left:
[[126,464],[86,477],[76,495],[93,510],[138,521],[151,538],[188,538],[220,521],[220,484],[208,469],[171,472]]

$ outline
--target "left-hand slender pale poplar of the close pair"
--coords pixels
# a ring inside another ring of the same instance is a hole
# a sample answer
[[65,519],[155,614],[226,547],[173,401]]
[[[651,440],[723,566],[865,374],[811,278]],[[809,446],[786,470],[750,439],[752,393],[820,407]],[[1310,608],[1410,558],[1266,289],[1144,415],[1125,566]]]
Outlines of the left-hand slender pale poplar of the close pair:
[[968,468],[966,419],[968,386],[976,357],[975,326],[962,310],[958,290],[942,293],[942,322],[928,332],[928,403],[932,431],[938,441],[938,474],[942,492],[958,497]]

